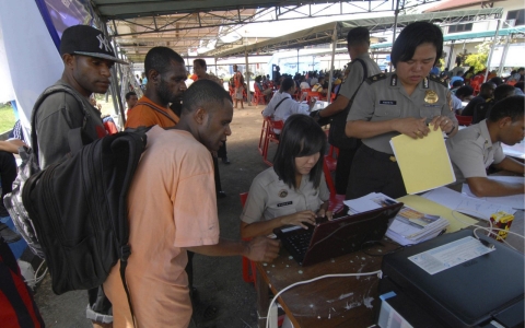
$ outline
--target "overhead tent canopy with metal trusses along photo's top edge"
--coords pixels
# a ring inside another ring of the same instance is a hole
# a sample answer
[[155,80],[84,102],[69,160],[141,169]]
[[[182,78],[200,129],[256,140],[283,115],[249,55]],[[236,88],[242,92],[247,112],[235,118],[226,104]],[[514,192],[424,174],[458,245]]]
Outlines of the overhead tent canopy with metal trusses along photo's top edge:
[[[45,0],[51,1],[51,0]],[[52,0],[55,1],[55,0]],[[73,0],[84,1],[84,0]],[[170,47],[178,54],[197,52],[213,56],[243,43],[267,39],[243,39],[235,33],[248,23],[393,11],[396,1],[401,10],[440,0],[91,0],[93,13],[105,23],[131,62],[143,62],[155,46]],[[226,38],[228,37],[228,38]],[[232,38],[233,37],[233,38]],[[189,50],[188,50],[189,49]],[[211,50],[210,49],[215,49]]]

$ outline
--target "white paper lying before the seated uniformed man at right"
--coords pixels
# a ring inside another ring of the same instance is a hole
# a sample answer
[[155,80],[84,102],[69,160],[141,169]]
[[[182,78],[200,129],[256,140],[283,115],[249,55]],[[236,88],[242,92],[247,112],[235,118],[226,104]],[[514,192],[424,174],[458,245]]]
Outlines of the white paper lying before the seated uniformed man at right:
[[491,214],[499,211],[503,211],[510,214],[514,214],[516,212],[516,210],[510,206],[475,199],[446,187],[431,190],[424,194],[422,197],[441,203],[442,206],[447,207],[452,210],[469,214],[482,220],[489,220]]

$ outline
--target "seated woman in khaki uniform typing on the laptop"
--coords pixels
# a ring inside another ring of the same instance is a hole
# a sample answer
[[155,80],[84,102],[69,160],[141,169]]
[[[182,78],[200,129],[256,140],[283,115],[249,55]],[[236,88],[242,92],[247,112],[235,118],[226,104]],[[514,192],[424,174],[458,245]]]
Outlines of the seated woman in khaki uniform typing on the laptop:
[[295,114],[284,124],[273,167],[257,175],[241,215],[241,236],[269,235],[282,225],[315,224],[331,219],[330,194],[323,174],[326,134],[310,116]]

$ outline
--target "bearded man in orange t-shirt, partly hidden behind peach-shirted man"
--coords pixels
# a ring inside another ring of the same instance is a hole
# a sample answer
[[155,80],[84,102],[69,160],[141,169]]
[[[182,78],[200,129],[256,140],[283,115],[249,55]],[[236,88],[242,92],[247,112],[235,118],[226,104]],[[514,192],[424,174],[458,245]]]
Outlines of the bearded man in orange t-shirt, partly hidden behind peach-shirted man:
[[125,127],[174,127],[178,116],[168,106],[170,103],[179,104],[186,91],[183,57],[167,47],[154,47],[145,55],[144,69],[148,77],[144,95],[129,112]]

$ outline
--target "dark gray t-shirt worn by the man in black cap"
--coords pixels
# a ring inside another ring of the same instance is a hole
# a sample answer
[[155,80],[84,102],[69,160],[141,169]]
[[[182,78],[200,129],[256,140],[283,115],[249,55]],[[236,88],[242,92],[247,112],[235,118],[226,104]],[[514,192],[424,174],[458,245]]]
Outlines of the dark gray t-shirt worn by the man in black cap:
[[[84,132],[92,140],[106,134],[101,119],[101,113],[90,104],[89,99],[74,91],[72,86],[62,80],[62,84],[75,92],[88,113],[88,121]],[[34,115],[34,114],[33,114]],[[84,113],[80,103],[67,92],[57,92],[47,96],[36,112],[36,137],[38,142],[38,163],[40,168],[61,160],[70,152],[68,132],[71,129],[82,127]]]

